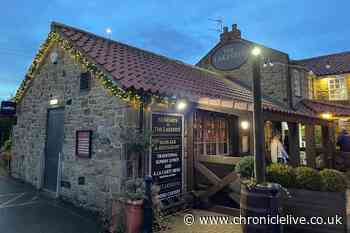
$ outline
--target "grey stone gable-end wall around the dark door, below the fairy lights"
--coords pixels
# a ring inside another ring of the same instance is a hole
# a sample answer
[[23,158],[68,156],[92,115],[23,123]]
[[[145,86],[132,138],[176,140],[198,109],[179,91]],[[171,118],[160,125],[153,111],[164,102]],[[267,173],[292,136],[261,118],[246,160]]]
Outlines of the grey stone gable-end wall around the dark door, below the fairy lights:
[[[108,206],[111,190],[118,190],[125,175],[125,158],[120,138],[120,124],[135,125],[137,112],[117,97],[111,97],[92,77],[91,89],[80,90],[84,72],[67,53],[53,46],[59,54],[57,64],[43,61],[23,100],[18,105],[18,123],[13,131],[12,170],[15,177],[41,188],[45,156],[46,121],[50,99],[64,107],[64,142],[60,195],[90,209]],[[92,130],[92,157],[75,156],[77,130]],[[78,178],[85,177],[85,185]]]

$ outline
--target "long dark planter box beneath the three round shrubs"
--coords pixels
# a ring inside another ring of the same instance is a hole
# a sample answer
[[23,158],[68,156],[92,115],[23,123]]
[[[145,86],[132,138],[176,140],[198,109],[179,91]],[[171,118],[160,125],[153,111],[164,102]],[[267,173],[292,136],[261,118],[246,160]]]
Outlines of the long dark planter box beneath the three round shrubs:
[[346,192],[317,192],[303,189],[288,189],[291,198],[283,197],[283,212],[294,217],[327,217],[341,216],[342,224],[285,225],[286,232],[305,233],[346,233]]

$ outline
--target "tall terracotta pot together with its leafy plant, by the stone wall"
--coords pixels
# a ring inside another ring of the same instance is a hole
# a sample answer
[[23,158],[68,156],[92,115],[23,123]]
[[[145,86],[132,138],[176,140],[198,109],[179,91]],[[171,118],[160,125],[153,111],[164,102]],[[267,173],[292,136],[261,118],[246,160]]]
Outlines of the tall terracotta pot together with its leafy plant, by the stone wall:
[[114,198],[123,207],[125,216],[125,232],[139,233],[142,226],[143,200],[145,198],[145,184],[143,179],[130,179],[124,182],[120,193]]

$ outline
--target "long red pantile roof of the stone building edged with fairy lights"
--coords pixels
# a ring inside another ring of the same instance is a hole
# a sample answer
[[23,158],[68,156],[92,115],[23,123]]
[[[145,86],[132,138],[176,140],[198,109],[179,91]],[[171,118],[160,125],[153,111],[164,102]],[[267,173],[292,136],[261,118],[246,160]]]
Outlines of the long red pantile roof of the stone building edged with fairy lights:
[[[107,71],[120,87],[198,101],[200,98],[253,102],[252,92],[224,76],[59,23],[52,28]],[[266,110],[296,113],[264,100]]]

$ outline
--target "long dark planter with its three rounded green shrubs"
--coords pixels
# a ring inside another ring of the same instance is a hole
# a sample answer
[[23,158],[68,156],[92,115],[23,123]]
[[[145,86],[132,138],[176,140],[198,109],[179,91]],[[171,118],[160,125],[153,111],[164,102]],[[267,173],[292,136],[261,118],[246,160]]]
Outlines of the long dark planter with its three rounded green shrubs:
[[289,197],[282,199],[285,215],[303,217],[310,220],[318,217],[325,221],[329,217],[342,217],[341,224],[289,224],[287,231],[335,233],[346,232],[346,188],[345,176],[336,170],[317,171],[310,167],[292,168],[273,164],[267,168],[267,179],[280,183],[288,189]]

